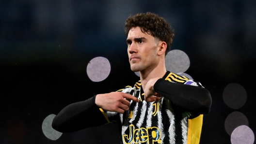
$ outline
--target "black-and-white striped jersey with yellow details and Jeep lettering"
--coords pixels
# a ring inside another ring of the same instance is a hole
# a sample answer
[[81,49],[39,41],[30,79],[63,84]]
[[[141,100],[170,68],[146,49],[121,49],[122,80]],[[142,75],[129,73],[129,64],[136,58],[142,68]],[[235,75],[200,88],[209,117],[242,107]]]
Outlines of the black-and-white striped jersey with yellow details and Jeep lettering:
[[[163,79],[170,83],[203,87],[197,81],[171,72],[166,72]],[[189,112],[180,110],[164,96],[160,101],[144,101],[140,81],[133,87],[126,86],[118,91],[131,94],[140,100],[129,100],[129,110],[124,114],[101,110],[108,121],[117,120],[114,117],[118,117],[122,124],[121,144],[199,144],[203,115],[190,119]]]

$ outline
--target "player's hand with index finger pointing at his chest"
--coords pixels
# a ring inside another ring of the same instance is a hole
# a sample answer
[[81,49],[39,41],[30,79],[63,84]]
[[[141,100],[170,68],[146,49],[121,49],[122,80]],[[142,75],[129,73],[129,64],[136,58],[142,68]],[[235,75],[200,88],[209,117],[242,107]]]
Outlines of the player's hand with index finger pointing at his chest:
[[106,94],[98,94],[95,98],[95,103],[98,107],[123,114],[129,110],[130,102],[128,100],[139,102],[139,99],[123,92],[111,92]]

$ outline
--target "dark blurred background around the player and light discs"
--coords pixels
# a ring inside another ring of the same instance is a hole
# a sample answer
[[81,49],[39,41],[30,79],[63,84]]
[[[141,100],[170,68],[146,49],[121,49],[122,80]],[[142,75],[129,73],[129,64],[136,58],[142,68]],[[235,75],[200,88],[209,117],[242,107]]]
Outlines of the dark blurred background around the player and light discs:
[[[42,123],[70,103],[139,80],[129,67],[124,23],[130,14],[146,12],[171,24],[172,50],[188,55],[186,73],[211,93],[200,144],[231,144],[224,123],[235,111],[256,132],[256,0],[0,0],[0,144],[115,141],[113,124],[64,133],[53,141]],[[101,82],[86,73],[95,57],[111,64]],[[246,90],[239,109],[223,100],[230,83]]]

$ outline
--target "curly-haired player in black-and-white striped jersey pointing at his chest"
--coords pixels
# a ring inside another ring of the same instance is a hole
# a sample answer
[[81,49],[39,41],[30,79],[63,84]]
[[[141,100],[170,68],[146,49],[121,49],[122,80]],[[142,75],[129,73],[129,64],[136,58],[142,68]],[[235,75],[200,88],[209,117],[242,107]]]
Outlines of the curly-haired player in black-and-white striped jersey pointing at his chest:
[[211,96],[199,82],[166,70],[173,29],[146,13],[128,17],[125,32],[130,68],[140,81],[66,106],[52,127],[72,132],[116,121],[122,144],[198,144]]

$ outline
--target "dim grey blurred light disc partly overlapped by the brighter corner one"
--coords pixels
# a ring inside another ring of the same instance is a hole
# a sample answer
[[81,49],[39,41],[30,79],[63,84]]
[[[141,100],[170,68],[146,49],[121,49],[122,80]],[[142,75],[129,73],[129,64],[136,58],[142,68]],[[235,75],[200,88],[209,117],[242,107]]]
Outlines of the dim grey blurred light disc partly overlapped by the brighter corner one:
[[225,120],[225,130],[229,135],[232,134],[233,130],[242,125],[248,126],[249,124],[247,117],[240,112],[229,114]]

